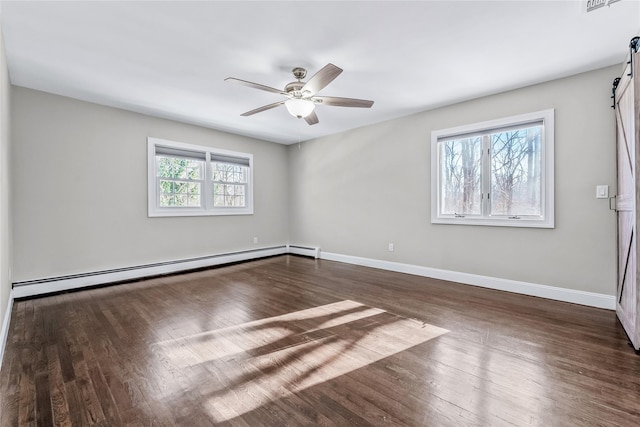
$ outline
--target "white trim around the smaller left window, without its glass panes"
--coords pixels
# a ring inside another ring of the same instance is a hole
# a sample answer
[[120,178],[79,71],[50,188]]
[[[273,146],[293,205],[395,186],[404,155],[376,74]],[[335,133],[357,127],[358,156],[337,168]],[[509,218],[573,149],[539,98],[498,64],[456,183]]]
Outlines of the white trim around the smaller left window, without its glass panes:
[[[185,151],[206,153],[205,176],[203,184],[202,206],[199,208],[161,208],[159,207],[158,185],[156,183],[156,146],[175,148]],[[206,197],[212,191],[211,165],[212,155],[237,157],[249,160],[249,176],[247,177],[246,206],[237,207],[213,207],[213,199]],[[201,145],[185,144],[159,138],[147,138],[147,205],[148,216],[151,217],[175,217],[175,216],[218,216],[218,215],[252,215],[253,214],[253,154],[238,151],[222,150]]]

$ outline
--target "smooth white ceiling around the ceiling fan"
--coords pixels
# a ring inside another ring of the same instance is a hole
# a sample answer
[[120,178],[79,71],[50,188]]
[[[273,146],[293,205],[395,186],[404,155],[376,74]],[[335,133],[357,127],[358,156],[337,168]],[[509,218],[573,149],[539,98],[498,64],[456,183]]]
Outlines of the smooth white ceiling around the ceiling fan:
[[[610,0],[606,0],[610,1]],[[45,92],[291,144],[455,102],[621,64],[640,2],[1,2],[11,82]],[[283,99],[302,66],[344,72],[307,125]],[[606,102],[606,100],[604,101]]]

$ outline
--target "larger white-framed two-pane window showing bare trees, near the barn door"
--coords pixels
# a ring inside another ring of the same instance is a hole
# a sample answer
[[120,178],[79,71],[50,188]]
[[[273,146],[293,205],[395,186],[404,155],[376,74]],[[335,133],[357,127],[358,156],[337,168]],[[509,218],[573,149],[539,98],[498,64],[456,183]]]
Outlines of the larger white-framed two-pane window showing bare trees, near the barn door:
[[553,110],[431,133],[431,222],[554,227]]

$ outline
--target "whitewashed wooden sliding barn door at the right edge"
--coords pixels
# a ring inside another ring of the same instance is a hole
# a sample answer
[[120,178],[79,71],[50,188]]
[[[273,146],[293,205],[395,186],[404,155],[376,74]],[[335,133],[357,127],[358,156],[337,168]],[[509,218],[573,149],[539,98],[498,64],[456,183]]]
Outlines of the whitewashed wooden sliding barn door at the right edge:
[[[635,59],[635,58],[634,58]],[[640,58],[639,58],[640,59]],[[637,68],[637,67],[636,67]],[[634,82],[627,67],[615,91],[618,194],[618,283],[616,313],[634,348],[637,330],[636,135]]]

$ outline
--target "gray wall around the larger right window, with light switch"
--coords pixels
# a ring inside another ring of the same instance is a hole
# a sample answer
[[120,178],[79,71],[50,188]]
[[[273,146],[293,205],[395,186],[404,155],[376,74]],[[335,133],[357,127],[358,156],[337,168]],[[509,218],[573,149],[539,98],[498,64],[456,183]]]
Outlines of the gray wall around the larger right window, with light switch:
[[[609,96],[620,72],[609,67],[290,146],[291,241],[613,295],[615,214],[595,198],[595,187],[608,184],[615,194]],[[430,223],[432,130],[549,108],[555,108],[555,229]],[[389,242],[395,252],[387,251]]]

